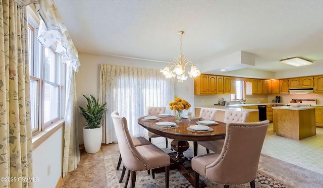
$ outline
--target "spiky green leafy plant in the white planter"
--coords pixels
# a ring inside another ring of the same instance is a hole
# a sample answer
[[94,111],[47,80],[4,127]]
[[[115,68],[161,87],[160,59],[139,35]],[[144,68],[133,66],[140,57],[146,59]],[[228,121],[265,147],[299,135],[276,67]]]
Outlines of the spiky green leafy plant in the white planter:
[[104,106],[104,104],[100,104],[98,100],[95,99],[92,95],[90,97],[87,97],[83,95],[87,100],[87,106],[86,109],[79,106],[81,110],[81,114],[86,120],[86,124],[89,129],[95,129],[98,128],[98,126],[101,123],[101,119],[104,115],[104,112],[107,110]]

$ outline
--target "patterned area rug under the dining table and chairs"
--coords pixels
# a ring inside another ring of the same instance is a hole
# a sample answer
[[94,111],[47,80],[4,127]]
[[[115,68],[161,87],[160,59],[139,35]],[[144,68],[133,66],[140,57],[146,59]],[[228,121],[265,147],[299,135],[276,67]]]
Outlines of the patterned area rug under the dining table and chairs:
[[[103,151],[104,153],[104,151]],[[119,178],[121,176],[122,170],[116,170],[119,155],[118,154],[103,154],[104,155],[104,166],[105,166],[105,175],[107,181],[107,187],[124,187],[127,173],[125,174],[123,182],[119,183]],[[213,183],[203,177],[200,176],[200,179],[205,182],[208,188],[218,188],[223,187],[223,184]],[[286,187],[281,182],[275,180],[274,178],[257,173],[257,177],[255,179],[256,187]],[[130,182],[128,183],[130,186]],[[152,179],[151,174],[148,175],[147,171],[137,172],[136,178],[136,187],[145,187],[145,188],[162,188],[165,187],[165,173],[157,173],[155,174],[155,178]],[[170,171],[170,187],[193,187],[188,180],[178,171],[171,170]],[[234,187],[250,187],[250,183],[245,183],[242,185],[232,185]]]

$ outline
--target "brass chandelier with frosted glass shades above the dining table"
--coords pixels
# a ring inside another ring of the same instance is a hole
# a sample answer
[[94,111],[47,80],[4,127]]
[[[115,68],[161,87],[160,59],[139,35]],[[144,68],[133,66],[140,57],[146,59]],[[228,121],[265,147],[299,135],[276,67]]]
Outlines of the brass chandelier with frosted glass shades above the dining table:
[[182,54],[182,35],[184,34],[184,31],[179,31],[178,34],[181,35],[181,54],[174,57],[174,62],[169,62],[163,70],[160,69],[160,72],[163,73],[166,78],[176,76],[178,79],[177,82],[183,83],[183,81],[187,79],[187,76],[185,76],[185,69],[188,65],[191,66],[191,71],[187,72],[190,78],[199,76],[201,72],[192,61],[189,61],[188,57],[185,57]]

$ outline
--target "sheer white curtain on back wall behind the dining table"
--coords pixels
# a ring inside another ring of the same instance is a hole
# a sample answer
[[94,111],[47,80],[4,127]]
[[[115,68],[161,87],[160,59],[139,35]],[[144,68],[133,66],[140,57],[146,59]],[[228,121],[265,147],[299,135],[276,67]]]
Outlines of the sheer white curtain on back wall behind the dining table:
[[127,118],[132,137],[146,135],[138,118],[145,115],[146,106],[168,107],[174,89],[174,79],[166,79],[159,70],[100,65],[100,101],[107,102],[103,143],[117,141],[111,119],[114,110]]

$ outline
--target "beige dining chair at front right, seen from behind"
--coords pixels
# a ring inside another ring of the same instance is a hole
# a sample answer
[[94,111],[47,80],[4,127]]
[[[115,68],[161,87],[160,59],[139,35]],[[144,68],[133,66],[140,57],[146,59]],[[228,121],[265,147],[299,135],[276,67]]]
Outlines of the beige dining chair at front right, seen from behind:
[[224,184],[224,187],[247,182],[255,187],[254,179],[268,124],[268,120],[227,123],[225,144],[221,153],[192,158],[194,187],[198,187],[199,174]]

